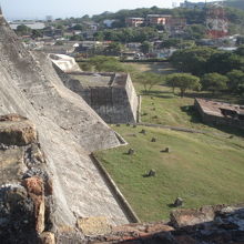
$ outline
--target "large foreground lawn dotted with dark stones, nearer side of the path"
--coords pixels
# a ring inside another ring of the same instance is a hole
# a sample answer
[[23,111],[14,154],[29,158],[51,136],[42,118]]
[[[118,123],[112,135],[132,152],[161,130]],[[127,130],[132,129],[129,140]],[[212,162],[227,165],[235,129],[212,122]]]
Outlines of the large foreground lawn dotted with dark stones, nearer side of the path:
[[[177,196],[184,207],[244,202],[244,142],[161,129],[121,125],[130,143],[96,156],[142,221],[167,218]],[[140,133],[146,130],[146,135]],[[156,142],[151,142],[156,138]],[[169,146],[172,152],[162,153]],[[134,155],[128,155],[130,148]],[[151,169],[155,177],[143,177]]]

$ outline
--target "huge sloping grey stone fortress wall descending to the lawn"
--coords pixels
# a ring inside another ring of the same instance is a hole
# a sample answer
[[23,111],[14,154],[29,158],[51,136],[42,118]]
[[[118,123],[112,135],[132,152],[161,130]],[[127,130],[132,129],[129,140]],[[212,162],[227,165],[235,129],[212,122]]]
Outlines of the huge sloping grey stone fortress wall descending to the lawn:
[[57,226],[75,226],[77,217],[88,216],[128,223],[89,157],[90,151],[119,146],[116,135],[63,87],[45,55],[29,53],[0,22],[0,114],[19,113],[37,125],[53,179]]

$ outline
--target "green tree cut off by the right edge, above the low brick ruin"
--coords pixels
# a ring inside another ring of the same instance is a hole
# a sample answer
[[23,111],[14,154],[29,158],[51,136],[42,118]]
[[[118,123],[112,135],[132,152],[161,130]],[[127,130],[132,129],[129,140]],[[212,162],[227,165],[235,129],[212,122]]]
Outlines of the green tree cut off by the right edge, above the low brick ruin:
[[228,82],[227,87],[231,92],[236,94],[244,93],[244,72],[241,70],[232,70],[227,73]]

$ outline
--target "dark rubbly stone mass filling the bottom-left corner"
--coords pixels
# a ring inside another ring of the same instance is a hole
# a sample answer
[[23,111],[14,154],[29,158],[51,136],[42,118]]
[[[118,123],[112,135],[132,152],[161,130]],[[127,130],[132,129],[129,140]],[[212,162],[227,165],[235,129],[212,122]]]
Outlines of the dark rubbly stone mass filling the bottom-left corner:
[[0,243],[37,243],[34,204],[26,189],[7,184],[0,189]]

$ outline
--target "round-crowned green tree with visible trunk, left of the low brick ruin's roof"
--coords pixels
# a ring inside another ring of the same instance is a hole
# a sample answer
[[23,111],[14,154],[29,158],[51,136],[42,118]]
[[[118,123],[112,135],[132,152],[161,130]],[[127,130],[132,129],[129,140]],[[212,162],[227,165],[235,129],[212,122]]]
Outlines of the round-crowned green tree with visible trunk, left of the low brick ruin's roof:
[[190,73],[173,73],[166,77],[166,83],[173,88],[181,90],[181,96],[183,98],[187,89],[200,90],[201,83],[197,77],[194,77]]

